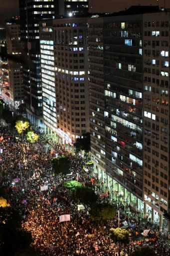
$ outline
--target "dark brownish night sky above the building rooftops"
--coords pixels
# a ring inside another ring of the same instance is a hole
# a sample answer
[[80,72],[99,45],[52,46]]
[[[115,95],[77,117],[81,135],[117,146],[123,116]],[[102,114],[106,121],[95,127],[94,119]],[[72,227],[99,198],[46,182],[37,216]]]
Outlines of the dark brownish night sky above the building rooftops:
[[[131,5],[160,5],[170,8],[170,0],[89,0],[92,12],[115,12]],[[5,18],[19,14],[18,0],[0,0],[0,24]]]

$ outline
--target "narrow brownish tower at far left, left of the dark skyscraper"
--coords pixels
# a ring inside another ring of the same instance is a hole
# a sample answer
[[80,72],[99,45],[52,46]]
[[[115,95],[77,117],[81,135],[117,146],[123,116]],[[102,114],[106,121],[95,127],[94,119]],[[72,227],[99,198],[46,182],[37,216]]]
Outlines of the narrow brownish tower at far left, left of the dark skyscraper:
[[[17,108],[23,103],[22,85],[22,49],[23,42],[20,38],[20,24],[18,18],[6,21],[6,46],[8,54],[9,71],[9,104]],[[6,100],[5,100],[6,101]]]

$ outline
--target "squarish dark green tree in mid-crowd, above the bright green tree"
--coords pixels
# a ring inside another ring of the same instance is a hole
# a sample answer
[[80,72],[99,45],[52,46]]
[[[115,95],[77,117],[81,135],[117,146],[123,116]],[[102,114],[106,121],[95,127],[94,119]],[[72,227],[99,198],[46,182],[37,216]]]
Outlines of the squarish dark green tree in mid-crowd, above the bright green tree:
[[52,169],[57,174],[66,175],[70,172],[70,162],[68,156],[60,155],[52,158]]

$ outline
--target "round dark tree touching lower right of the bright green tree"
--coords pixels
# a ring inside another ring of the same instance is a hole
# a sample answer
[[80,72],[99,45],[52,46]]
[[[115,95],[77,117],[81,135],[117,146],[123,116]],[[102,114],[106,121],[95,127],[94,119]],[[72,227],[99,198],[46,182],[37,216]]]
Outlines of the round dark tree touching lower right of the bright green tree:
[[82,203],[85,204],[93,204],[97,201],[97,195],[95,194],[95,191],[90,187],[77,187],[75,195]]

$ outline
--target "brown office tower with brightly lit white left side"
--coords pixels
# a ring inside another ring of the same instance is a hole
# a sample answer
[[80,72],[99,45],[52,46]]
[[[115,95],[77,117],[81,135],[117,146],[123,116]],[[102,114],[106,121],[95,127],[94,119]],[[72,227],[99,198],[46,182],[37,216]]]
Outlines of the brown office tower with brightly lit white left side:
[[67,150],[89,132],[87,51],[87,17],[40,23],[45,131]]

